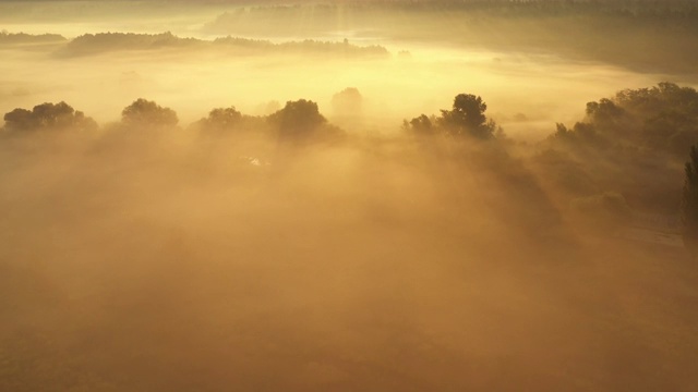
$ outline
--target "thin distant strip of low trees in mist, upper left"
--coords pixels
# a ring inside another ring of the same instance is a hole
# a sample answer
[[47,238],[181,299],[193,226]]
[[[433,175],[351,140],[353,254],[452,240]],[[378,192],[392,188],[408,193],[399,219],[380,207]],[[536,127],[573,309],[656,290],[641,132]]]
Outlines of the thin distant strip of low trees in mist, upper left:
[[344,41],[298,40],[275,44],[264,39],[249,39],[239,37],[222,37],[214,40],[196,38],[180,38],[172,33],[134,34],[134,33],[100,33],[85,34],[74,39],[67,39],[60,35],[29,35],[24,33],[0,33],[0,45],[24,44],[60,44],[53,51],[58,57],[80,57],[99,54],[112,51],[141,51],[160,49],[222,49],[241,53],[303,53],[332,54],[340,57],[387,57],[387,49],[376,45],[358,46]]

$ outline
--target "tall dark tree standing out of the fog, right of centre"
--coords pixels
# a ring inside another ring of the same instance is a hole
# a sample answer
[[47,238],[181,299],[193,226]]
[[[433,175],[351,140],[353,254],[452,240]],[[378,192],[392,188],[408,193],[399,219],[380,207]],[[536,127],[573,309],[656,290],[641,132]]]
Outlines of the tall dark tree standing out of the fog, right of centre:
[[481,97],[472,94],[459,94],[454,99],[452,110],[442,110],[440,119],[445,131],[453,135],[471,135],[478,138],[491,138],[496,124],[488,121],[484,112],[488,105]]

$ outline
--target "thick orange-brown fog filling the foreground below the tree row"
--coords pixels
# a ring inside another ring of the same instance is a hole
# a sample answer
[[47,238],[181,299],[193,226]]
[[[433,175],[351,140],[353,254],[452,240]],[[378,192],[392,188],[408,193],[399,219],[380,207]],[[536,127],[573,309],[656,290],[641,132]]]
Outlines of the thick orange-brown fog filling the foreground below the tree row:
[[5,388],[693,382],[695,269],[579,244],[530,174],[464,148],[5,140]]

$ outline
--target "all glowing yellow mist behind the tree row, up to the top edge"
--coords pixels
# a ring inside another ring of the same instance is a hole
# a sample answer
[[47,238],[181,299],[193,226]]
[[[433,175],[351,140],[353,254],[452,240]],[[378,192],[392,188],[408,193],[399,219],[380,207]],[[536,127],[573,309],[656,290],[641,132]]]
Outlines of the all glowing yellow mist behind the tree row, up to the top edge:
[[[14,12],[0,16],[0,21],[4,20],[3,28],[10,33],[52,33],[69,39],[107,32],[172,32],[182,41],[189,37],[203,41],[108,46],[106,39],[97,37],[72,50],[63,48],[64,42],[40,48],[3,45],[3,112],[17,106],[65,100],[108,122],[117,119],[125,102],[147,96],[174,108],[184,122],[191,122],[213,107],[232,103],[254,113],[268,100],[284,102],[299,97],[329,109],[334,94],[356,87],[371,102],[364,114],[385,128],[416,112],[434,112],[443,106],[444,97],[467,89],[488,97],[491,115],[507,125],[509,133],[540,138],[544,134],[537,130],[552,130],[561,120],[574,121],[582,114],[579,108],[587,101],[619,89],[663,79],[696,85],[695,73],[676,73],[673,69],[683,70],[681,63],[693,63],[689,59],[661,60],[662,54],[658,54],[654,64],[659,69],[650,72],[638,72],[623,61],[599,61],[597,53],[609,50],[603,30],[575,30],[570,41],[562,46],[541,41],[542,34],[547,34],[547,40],[556,37],[557,26],[549,26],[552,22],[546,20],[532,29],[518,19],[501,20],[496,15],[488,26],[476,16],[461,16],[466,22],[460,26],[458,13],[449,15],[438,9],[420,14],[349,5],[255,9],[186,2],[165,8],[129,1],[77,4],[39,1],[22,5],[10,1],[0,8]],[[71,12],[73,7],[82,11]],[[141,12],[152,16],[142,16]],[[136,15],[127,17],[125,13]],[[303,21],[302,26],[292,27],[300,23],[296,17]],[[434,26],[440,21],[443,26]],[[410,25],[416,26],[412,35],[422,30],[429,30],[429,35],[406,37],[404,30]],[[529,35],[526,45],[517,44],[521,29]],[[582,34],[591,36],[575,38]],[[387,53],[377,59],[337,59],[333,51],[309,53],[303,48],[251,50],[236,45],[205,45],[229,35],[277,44],[348,39],[357,47],[380,45]],[[657,36],[660,39],[662,34]],[[622,47],[626,39],[615,38],[616,45]],[[672,41],[675,39],[667,37],[655,45],[645,44],[643,51],[664,48]],[[595,48],[589,48],[594,44]],[[693,51],[691,45],[672,53]],[[628,56],[635,52],[628,50]],[[98,95],[110,99],[95,99]],[[528,121],[512,121],[521,118],[518,114],[525,114]]]

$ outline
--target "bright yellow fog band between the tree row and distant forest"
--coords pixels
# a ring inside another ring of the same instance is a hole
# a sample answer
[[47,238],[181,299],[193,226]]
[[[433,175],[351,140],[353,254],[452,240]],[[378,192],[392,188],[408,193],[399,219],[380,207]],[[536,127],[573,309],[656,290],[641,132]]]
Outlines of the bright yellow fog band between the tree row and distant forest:
[[[332,115],[334,94],[356,87],[366,100],[363,114],[385,128],[414,113],[435,112],[444,106],[445,97],[467,89],[486,96],[492,115],[509,125],[509,132],[540,138],[543,135],[535,130],[550,131],[555,121],[579,118],[579,108],[598,96],[661,79],[653,74],[565,62],[551,56],[417,45],[399,48],[409,50],[409,58],[397,52],[380,59],[336,60],[322,53],[240,58],[185,50],[56,59],[43,52],[10,51],[0,72],[13,77],[4,84],[0,109],[7,112],[15,107],[65,100],[108,122],[117,119],[124,103],[147,96],[174,108],[183,122],[192,122],[214,107],[234,103],[240,110],[262,114],[260,105],[270,99],[284,102],[305,97],[327,108]],[[565,91],[565,99],[561,99],[561,91]],[[517,114],[525,114],[535,126],[517,123]]]

